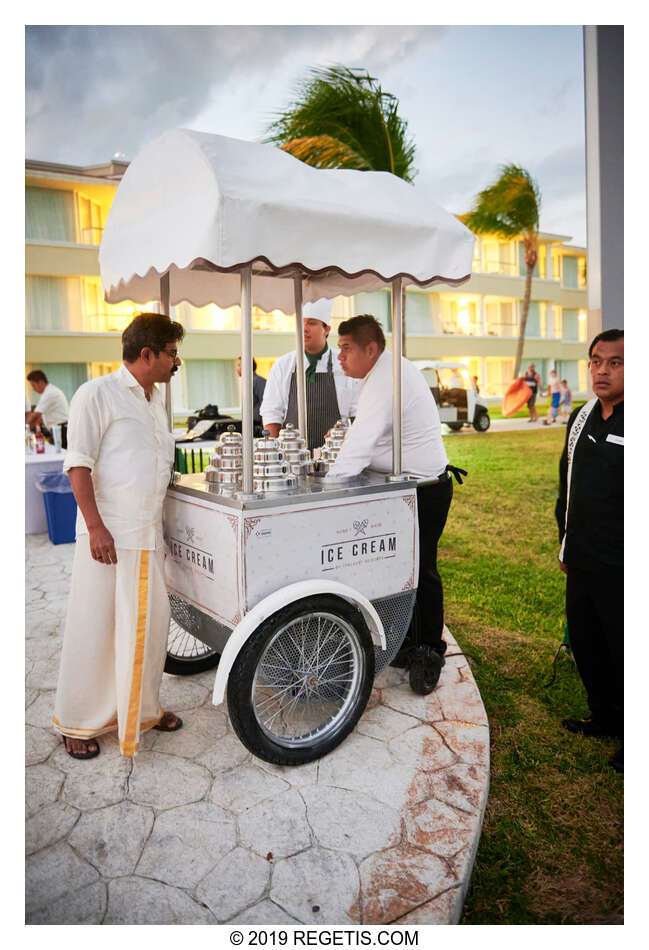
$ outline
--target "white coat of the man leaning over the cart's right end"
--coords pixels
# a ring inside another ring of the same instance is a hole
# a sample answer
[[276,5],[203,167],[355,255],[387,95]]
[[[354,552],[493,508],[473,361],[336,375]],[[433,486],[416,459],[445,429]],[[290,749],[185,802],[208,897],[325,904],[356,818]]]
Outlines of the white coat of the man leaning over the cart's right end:
[[[401,360],[401,460],[404,472],[437,477],[448,465],[439,412],[423,375]],[[361,382],[354,420],[326,479],[364,468],[392,471],[392,353],[384,350]]]

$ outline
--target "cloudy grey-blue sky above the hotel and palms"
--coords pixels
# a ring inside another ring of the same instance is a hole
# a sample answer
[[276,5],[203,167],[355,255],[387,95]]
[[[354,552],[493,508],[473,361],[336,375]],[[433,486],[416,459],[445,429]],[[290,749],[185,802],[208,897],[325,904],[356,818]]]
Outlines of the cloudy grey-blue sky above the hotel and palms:
[[586,239],[581,27],[27,27],[26,154],[134,158],[177,126],[263,137],[314,66],[363,67],[400,100],[417,188],[449,211],[515,162],[541,228]]

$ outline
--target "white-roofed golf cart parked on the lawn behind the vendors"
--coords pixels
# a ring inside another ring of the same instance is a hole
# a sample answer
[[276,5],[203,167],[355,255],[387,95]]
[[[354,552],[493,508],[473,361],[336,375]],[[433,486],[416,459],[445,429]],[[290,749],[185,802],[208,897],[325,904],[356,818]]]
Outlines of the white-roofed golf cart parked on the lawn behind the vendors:
[[465,363],[452,360],[413,360],[424,373],[435,397],[439,418],[453,432],[472,425],[477,432],[486,432],[491,424],[486,402],[480,398]]

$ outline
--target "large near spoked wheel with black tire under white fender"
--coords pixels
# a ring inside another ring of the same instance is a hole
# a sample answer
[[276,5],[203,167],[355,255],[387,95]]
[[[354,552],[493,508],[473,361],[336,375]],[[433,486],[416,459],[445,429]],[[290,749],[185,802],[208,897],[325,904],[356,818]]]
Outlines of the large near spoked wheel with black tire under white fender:
[[323,594],[265,620],[228,679],[235,732],[254,755],[302,765],[334,749],[358,722],[374,680],[374,647],[361,613]]

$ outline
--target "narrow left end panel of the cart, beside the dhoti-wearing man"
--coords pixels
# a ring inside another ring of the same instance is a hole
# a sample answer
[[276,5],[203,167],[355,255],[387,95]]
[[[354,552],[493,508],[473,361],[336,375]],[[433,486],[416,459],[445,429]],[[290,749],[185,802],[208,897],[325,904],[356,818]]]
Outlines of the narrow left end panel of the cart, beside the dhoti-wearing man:
[[240,512],[167,492],[167,588],[230,627],[241,619],[240,528]]

